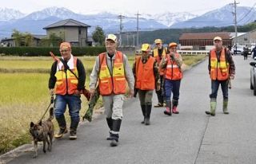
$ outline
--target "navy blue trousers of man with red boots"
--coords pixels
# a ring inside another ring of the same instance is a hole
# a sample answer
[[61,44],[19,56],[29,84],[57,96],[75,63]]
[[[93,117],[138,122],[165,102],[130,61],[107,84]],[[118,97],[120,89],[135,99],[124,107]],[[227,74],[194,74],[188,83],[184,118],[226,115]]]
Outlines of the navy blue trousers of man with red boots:
[[166,101],[170,101],[171,93],[173,92],[173,100],[179,99],[179,88],[181,85],[181,80],[165,80],[165,95]]

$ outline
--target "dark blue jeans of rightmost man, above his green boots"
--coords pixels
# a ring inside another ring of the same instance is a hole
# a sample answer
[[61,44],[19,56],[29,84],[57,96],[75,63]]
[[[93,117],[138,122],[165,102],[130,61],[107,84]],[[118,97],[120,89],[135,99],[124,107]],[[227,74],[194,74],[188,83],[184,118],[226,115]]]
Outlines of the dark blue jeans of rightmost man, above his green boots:
[[223,99],[228,100],[229,99],[228,80],[211,80],[210,98],[211,99],[217,98],[219,84],[221,84],[222,86]]

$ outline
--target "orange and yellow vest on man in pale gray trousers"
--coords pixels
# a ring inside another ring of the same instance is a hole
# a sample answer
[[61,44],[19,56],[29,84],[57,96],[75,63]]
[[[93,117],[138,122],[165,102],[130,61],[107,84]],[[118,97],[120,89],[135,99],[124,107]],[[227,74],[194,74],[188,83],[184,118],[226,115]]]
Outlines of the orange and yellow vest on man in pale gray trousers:
[[99,54],[99,91],[102,96],[126,93],[126,76],[123,65],[123,55],[120,51],[115,53],[112,76],[106,64],[106,53]]

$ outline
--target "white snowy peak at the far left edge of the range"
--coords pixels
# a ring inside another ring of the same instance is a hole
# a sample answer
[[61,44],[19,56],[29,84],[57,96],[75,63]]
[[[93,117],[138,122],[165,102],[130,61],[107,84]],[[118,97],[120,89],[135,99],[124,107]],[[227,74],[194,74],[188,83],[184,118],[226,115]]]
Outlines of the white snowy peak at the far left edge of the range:
[[10,21],[12,19],[19,19],[24,17],[25,14],[14,9],[0,8],[0,21]]

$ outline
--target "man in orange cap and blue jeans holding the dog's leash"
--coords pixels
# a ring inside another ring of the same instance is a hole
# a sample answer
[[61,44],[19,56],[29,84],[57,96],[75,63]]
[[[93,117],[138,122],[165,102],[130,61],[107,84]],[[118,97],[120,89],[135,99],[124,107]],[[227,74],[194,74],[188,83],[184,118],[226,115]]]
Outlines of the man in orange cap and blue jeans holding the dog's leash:
[[67,133],[64,113],[68,105],[71,119],[70,139],[74,140],[77,139],[81,109],[80,92],[86,82],[86,72],[82,61],[72,55],[70,43],[62,42],[59,51],[62,57],[52,64],[49,79],[50,95],[56,95],[54,115],[60,128],[54,137],[61,139]]

